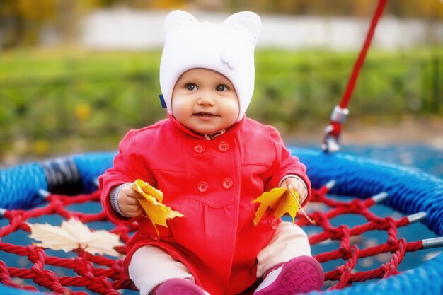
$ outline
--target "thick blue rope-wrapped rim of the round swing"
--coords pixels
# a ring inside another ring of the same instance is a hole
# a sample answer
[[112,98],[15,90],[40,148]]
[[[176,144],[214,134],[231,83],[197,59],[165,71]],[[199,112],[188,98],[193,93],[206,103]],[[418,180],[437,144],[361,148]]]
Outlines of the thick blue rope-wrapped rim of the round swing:
[[[387,192],[384,201],[389,207],[413,214],[426,212],[425,224],[438,236],[443,236],[443,180],[419,170],[395,164],[374,161],[349,154],[323,154],[311,149],[291,149],[308,167],[313,187],[321,187],[330,180],[336,185],[330,191],[335,195],[354,196],[362,199],[379,192]],[[112,166],[115,153],[91,153],[72,156],[69,159],[30,163],[0,170],[0,207],[26,209],[44,202],[40,189],[59,184],[60,180],[79,181],[84,192],[95,189],[98,175]],[[48,164],[49,163],[49,164]],[[74,163],[74,165],[73,165]],[[54,166],[56,168],[52,169]],[[48,168],[49,167],[49,168]],[[52,168],[51,168],[52,167]],[[62,173],[53,173],[61,170]],[[51,180],[47,180],[48,175]],[[80,176],[77,179],[77,176]],[[310,294],[443,294],[443,254],[422,263],[414,270],[381,279],[378,282],[353,284],[341,290],[312,292]],[[0,294],[35,295],[0,284]]]

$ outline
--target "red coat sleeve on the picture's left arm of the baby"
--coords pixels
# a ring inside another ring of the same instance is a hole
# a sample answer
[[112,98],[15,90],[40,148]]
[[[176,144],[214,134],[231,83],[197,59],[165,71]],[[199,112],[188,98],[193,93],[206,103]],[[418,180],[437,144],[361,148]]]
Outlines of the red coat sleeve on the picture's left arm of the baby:
[[120,141],[119,151],[115,155],[113,167],[100,175],[98,182],[101,190],[101,202],[103,209],[111,220],[119,223],[130,223],[134,219],[127,219],[114,212],[109,202],[110,190],[123,183],[132,183],[142,179],[148,183],[154,183],[154,177],[144,163],[144,157],[139,155],[137,146],[137,131],[131,130]]

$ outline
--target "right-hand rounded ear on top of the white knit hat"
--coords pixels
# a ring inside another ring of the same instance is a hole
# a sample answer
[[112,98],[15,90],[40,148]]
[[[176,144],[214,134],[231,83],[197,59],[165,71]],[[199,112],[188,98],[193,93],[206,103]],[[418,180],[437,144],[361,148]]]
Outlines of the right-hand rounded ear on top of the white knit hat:
[[222,25],[236,30],[246,30],[251,36],[251,42],[255,45],[261,33],[262,23],[260,16],[252,11],[234,13],[224,20]]

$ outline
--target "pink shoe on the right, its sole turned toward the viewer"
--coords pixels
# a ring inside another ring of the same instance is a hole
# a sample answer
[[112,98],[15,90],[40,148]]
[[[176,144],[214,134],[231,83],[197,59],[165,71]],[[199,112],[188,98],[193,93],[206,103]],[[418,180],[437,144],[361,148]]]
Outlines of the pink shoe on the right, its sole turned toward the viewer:
[[311,256],[299,256],[286,262],[275,281],[254,295],[294,295],[320,291],[323,281],[324,273],[320,263]]

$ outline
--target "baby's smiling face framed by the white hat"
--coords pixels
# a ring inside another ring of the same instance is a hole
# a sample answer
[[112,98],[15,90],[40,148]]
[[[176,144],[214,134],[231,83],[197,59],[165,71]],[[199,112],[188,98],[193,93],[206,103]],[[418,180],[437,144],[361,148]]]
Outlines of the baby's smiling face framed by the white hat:
[[231,81],[217,71],[190,69],[178,78],[172,94],[172,112],[183,126],[210,134],[233,125],[239,112]]

